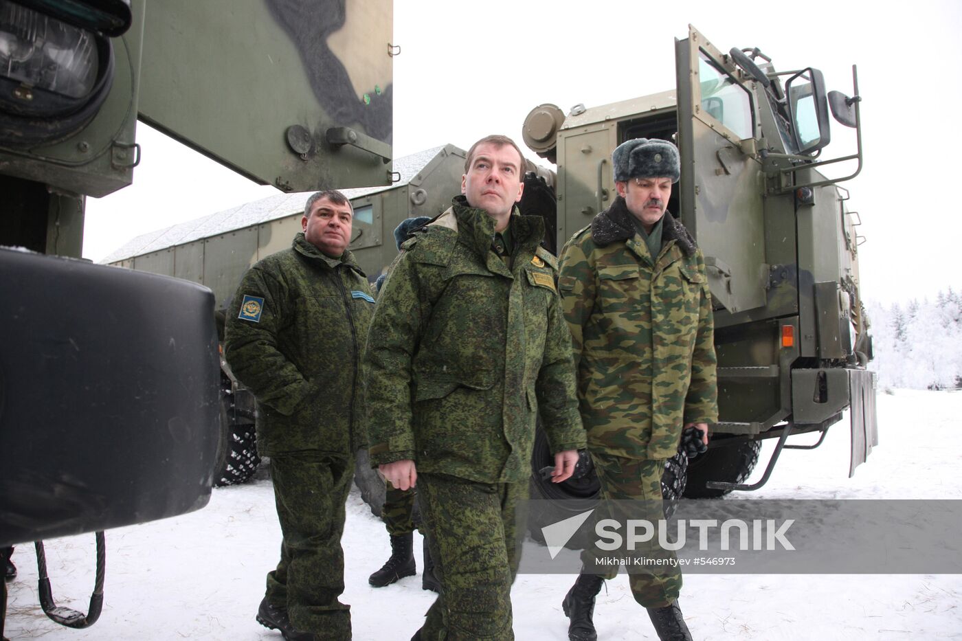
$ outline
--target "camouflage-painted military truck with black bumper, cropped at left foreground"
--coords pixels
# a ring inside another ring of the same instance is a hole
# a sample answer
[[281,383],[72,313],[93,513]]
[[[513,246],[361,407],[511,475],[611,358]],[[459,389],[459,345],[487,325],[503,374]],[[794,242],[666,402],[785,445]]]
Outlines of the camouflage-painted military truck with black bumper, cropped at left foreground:
[[[78,260],[137,119],[282,192],[390,184],[391,38],[391,0],[0,0],[0,553],[210,498],[214,295]],[[43,609],[91,624],[98,577],[88,615]]]

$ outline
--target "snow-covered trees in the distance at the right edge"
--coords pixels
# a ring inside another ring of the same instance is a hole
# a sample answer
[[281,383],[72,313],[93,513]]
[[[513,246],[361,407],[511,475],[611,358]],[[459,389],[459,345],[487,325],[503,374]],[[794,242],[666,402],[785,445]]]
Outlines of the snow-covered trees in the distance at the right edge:
[[962,388],[962,293],[867,307],[880,389]]

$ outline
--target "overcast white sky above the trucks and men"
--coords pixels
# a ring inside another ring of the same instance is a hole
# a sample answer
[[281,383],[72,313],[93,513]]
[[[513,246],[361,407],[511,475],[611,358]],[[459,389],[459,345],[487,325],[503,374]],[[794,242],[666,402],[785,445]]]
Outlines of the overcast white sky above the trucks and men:
[[[490,133],[521,141],[535,106],[564,112],[674,87],[674,38],[688,24],[723,51],[759,47],[776,69],[821,68],[828,89],[863,96],[861,175],[845,183],[863,221],[863,293],[894,302],[962,290],[954,156],[962,90],[962,3],[395,0],[394,156]],[[852,153],[832,122],[824,156]],[[134,185],[88,200],[84,256],[139,234],[277,191],[259,187],[139,125]],[[532,160],[537,157],[531,153]]]

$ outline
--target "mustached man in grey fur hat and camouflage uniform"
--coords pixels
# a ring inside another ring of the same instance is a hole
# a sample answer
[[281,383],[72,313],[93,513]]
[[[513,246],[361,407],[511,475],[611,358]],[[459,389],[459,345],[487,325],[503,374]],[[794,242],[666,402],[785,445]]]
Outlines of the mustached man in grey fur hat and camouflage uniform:
[[[718,421],[711,294],[701,251],[665,214],[680,174],[675,146],[626,141],[612,161],[618,197],[565,245],[559,289],[602,499],[637,500],[657,519],[662,471],[682,431],[700,429],[707,445],[708,423]],[[582,552],[585,567],[563,603],[571,641],[597,638],[595,595],[617,575],[594,560]],[[677,566],[629,581],[659,638],[691,639]]]

